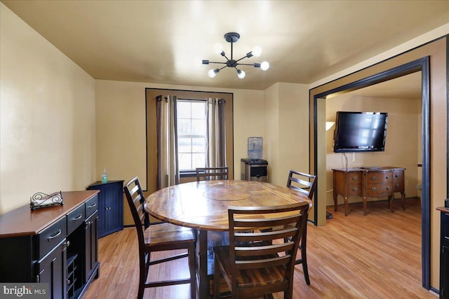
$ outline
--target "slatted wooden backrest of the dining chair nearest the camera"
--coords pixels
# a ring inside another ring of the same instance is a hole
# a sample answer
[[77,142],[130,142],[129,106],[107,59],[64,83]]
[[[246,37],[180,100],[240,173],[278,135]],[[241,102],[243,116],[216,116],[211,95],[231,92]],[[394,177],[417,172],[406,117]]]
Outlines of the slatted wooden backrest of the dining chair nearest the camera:
[[[295,257],[308,208],[309,205],[304,203],[229,207],[229,249],[234,287],[237,270],[263,271],[267,267],[281,267],[283,281],[293,280]],[[263,281],[264,277],[260,279]]]

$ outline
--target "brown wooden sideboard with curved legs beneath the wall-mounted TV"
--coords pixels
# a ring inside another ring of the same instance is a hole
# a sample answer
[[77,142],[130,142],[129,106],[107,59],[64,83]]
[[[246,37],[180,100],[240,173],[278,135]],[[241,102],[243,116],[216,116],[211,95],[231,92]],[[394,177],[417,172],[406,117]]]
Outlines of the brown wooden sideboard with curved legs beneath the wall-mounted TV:
[[348,197],[360,196],[363,200],[363,214],[366,215],[368,197],[387,197],[393,212],[394,193],[401,193],[402,208],[406,199],[404,171],[401,167],[336,168],[333,170],[333,200],[337,211],[337,197],[344,199],[344,216],[348,214]]

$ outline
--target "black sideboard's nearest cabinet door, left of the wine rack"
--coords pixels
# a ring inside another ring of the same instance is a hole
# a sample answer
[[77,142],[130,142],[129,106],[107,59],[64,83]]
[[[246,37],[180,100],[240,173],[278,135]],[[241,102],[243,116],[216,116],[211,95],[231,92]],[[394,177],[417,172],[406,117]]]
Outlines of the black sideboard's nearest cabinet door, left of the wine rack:
[[36,263],[37,282],[48,284],[48,298],[67,298],[67,246],[60,244]]

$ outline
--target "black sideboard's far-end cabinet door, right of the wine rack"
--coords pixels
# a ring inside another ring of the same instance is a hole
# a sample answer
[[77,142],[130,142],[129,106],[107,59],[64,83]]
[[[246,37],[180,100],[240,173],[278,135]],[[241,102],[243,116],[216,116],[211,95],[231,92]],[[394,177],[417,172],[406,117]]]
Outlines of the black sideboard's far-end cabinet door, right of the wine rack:
[[98,211],[86,219],[86,263],[85,279],[86,282],[92,275],[98,264]]

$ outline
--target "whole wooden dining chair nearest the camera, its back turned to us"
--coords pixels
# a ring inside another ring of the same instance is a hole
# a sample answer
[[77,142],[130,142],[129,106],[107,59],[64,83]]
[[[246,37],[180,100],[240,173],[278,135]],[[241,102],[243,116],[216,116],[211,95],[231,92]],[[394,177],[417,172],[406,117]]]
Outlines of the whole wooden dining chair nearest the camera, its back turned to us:
[[229,207],[230,244],[214,248],[214,298],[220,298],[220,277],[224,277],[232,298],[277,292],[292,298],[295,257],[307,209],[309,206],[300,202]]

